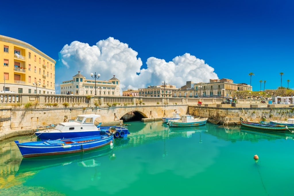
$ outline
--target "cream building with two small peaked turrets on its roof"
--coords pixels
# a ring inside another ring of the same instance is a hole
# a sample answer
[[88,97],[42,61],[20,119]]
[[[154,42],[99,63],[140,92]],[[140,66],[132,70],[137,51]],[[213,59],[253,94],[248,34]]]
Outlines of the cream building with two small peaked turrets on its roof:
[[[60,93],[68,92],[74,95],[95,95],[95,80],[88,80],[80,71],[73,76],[72,80],[64,81],[60,85]],[[119,96],[119,80],[113,75],[108,81],[96,79],[96,95],[97,96]]]

